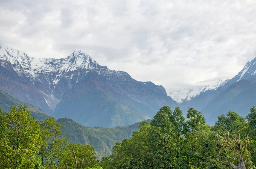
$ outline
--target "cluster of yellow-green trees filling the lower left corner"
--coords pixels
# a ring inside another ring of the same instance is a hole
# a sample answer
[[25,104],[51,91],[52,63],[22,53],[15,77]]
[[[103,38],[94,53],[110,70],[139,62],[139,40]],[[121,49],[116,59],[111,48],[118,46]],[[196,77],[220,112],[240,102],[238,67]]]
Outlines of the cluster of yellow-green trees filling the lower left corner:
[[0,109],[1,169],[74,168],[75,154],[79,168],[101,169],[93,147],[70,143],[53,117],[36,121],[26,106]]

